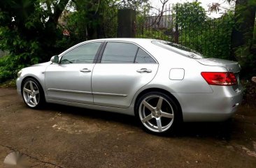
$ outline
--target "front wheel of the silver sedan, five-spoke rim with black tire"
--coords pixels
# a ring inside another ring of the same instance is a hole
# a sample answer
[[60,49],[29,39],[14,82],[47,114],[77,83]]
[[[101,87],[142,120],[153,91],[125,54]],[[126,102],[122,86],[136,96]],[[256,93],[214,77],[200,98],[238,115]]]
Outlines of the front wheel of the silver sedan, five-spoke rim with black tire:
[[45,104],[45,94],[36,79],[28,78],[22,82],[22,98],[31,109],[38,109]]

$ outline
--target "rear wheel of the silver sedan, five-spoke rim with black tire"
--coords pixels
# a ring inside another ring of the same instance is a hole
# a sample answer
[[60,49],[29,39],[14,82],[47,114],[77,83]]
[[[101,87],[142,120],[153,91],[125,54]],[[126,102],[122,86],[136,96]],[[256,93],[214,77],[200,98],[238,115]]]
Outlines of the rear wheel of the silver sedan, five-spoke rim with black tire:
[[146,93],[139,98],[136,116],[146,130],[157,134],[170,132],[180,120],[176,102],[160,92]]

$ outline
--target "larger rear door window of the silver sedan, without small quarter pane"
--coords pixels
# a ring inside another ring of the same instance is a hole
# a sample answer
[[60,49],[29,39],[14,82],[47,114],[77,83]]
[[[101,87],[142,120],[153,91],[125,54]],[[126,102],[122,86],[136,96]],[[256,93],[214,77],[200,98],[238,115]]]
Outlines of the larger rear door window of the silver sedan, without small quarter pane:
[[137,50],[129,43],[107,43],[101,63],[134,63]]

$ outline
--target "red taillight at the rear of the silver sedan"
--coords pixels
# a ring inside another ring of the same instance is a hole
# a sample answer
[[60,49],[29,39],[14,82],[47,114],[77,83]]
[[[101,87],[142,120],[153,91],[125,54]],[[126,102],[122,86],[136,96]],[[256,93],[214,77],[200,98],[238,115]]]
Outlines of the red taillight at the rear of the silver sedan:
[[208,84],[220,86],[232,86],[237,84],[233,72],[201,72]]

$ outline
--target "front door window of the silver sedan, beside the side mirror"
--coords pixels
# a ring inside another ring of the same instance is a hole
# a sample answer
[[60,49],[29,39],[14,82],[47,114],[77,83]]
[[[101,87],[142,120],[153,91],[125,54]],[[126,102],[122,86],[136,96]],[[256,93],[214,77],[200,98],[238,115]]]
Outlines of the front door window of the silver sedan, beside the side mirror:
[[66,63],[93,63],[101,43],[80,45],[62,56],[62,64]]

